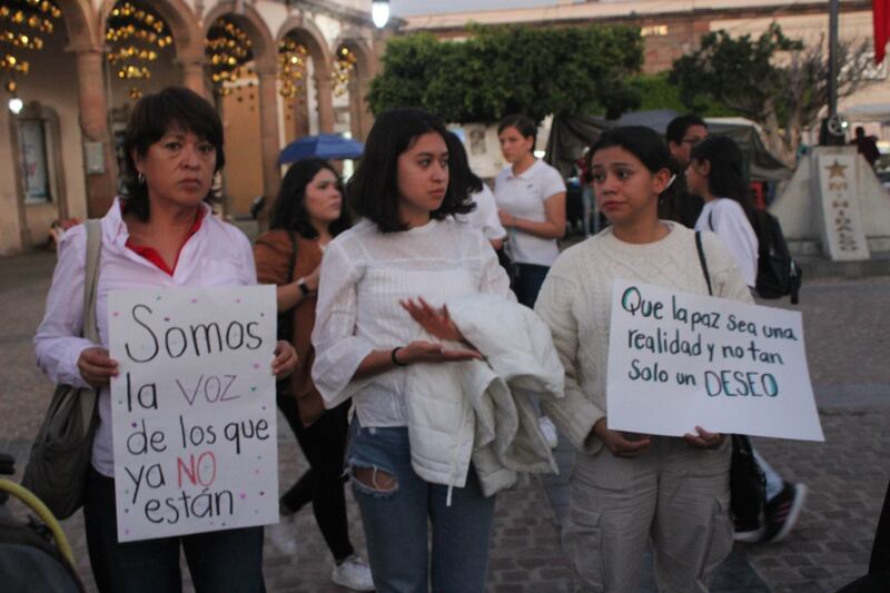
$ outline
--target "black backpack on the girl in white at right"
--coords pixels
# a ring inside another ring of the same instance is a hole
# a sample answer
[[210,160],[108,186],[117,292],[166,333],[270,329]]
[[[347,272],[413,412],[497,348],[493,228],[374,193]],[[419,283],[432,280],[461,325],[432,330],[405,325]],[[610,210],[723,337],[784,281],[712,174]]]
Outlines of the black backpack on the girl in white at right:
[[791,296],[798,304],[802,271],[791,251],[779,219],[765,210],[754,209],[751,225],[758,236],[758,279],[754,287],[761,298]]

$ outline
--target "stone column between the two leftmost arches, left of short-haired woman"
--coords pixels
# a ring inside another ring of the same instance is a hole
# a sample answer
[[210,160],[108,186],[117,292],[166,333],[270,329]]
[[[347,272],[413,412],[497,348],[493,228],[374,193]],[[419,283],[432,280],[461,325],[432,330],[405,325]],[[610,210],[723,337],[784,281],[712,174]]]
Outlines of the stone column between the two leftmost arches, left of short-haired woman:
[[117,164],[112,155],[111,137],[108,131],[108,98],[105,95],[103,62],[101,48],[76,48],[78,73],[78,102],[80,105],[80,132],[85,148],[85,167],[87,150],[99,145],[103,172],[86,171],[87,216],[90,218],[105,216],[111,206],[116,192]]

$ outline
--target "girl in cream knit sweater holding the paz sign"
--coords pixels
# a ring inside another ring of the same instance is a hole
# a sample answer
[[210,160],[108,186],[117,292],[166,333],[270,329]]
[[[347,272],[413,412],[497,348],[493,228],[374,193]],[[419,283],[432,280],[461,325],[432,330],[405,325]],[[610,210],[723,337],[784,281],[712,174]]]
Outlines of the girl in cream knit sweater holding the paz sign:
[[[695,236],[657,218],[672,177],[653,130],[607,131],[591,156],[597,206],[612,225],[560,256],[535,306],[566,379],[565,398],[544,408],[580,449],[563,543],[580,590],[639,591],[651,541],[662,593],[705,592],[732,547],[729,439],[701,426],[683,438],[631,435],[605,417],[612,281],[706,295]],[[713,234],[702,239],[714,296],[750,302],[732,256]]]

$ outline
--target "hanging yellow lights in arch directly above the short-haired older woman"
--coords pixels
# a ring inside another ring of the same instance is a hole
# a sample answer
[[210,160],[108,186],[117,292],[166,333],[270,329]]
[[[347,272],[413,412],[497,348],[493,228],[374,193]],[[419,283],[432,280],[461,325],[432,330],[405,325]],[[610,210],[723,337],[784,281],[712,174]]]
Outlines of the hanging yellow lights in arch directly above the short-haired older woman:
[[150,62],[158,59],[159,50],[172,46],[167,24],[138,2],[121,0],[111,9],[105,38],[110,48],[108,63],[119,79],[134,82],[129,95],[138,99],[142,90],[137,83],[151,78]]

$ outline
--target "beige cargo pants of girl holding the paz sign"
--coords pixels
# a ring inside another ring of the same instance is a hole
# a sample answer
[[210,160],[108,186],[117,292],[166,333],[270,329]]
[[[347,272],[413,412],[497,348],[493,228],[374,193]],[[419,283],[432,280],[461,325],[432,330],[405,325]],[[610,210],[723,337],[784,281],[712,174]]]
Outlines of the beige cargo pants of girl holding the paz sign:
[[635,458],[578,454],[563,524],[576,591],[637,593],[651,541],[661,593],[705,593],[732,550],[731,446],[656,436]]

